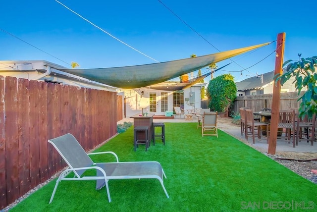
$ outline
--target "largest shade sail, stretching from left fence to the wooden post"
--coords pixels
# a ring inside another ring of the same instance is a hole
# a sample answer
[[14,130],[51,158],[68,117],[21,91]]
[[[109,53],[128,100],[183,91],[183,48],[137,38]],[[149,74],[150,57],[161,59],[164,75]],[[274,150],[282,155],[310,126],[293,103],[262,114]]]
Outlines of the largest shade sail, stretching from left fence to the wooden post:
[[60,71],[117,88],[141,88],[173,79],[183,74],[206,67],[211,63],[216,63],[268,44],[270,43],[204,56],[145,65],[94,69],[60,69]]

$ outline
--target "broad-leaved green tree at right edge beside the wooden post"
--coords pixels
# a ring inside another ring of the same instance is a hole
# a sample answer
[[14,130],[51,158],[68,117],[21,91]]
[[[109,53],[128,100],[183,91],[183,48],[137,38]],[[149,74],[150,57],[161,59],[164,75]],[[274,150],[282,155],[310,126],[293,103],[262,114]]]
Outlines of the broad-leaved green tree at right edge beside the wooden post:
[[293,84],[295,84],[298,95],[301,95],[301,91],[306,90],[297,100],[301,100],[299,115],[303,117],[308,114],[311,118],[313,114],[317,113],[317,56],[307,58],[301,58],[301,54],[298,56],[298,61],[287,60],[283,63],[283,69],[286,72],[280,76],[275,75],[275,83],[280,80],[280,84],[283,85],[291,77],[294,77]]

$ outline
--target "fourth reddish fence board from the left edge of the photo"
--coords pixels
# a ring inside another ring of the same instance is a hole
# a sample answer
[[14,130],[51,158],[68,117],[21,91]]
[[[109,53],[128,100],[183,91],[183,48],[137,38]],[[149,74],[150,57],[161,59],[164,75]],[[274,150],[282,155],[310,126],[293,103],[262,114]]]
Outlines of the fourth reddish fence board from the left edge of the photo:
[[31,188],[40,184],[40,147],[39,147],[39,83],[30,81],[30,174]]

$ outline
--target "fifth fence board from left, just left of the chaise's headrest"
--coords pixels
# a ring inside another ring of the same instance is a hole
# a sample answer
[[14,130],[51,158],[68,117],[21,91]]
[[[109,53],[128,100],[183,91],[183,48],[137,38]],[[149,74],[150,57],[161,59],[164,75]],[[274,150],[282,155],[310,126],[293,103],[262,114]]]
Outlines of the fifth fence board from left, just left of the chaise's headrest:
[[39,151],[41,183],[49,179],[48,172],[48,84],[39,82]]

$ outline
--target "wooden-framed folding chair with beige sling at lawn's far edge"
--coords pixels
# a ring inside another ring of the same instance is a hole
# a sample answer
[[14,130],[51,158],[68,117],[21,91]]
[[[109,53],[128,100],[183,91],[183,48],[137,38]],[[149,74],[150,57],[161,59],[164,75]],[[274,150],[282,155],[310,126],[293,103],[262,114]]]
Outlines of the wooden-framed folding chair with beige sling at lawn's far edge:
[[217,115],[218,112],[204,112],[202,121],[202,136],[213,135],[218,138],[217,130]]

